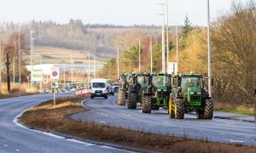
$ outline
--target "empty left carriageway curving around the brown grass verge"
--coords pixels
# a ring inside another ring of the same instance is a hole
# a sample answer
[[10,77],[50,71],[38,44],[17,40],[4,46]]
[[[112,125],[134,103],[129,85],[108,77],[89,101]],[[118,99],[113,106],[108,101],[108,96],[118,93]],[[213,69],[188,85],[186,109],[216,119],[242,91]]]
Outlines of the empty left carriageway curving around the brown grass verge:
[[[56,94],[63,97],[71,94]],[[14,122],[20,112],[38,105],[52,94],[0,99],[0,153],[2,152],[127,152],[104,145],[80,142],[20,127]]]

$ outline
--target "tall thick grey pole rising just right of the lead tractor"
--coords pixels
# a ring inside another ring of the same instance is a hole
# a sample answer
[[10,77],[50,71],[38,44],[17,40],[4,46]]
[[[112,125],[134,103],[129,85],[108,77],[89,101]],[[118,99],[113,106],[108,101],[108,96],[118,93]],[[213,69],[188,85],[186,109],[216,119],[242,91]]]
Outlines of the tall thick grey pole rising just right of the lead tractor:
[[208,90],[212,97],[212,71],[211,71],[211,38],[210,38],[210,0],[207,0],[207,40],[208,40]]

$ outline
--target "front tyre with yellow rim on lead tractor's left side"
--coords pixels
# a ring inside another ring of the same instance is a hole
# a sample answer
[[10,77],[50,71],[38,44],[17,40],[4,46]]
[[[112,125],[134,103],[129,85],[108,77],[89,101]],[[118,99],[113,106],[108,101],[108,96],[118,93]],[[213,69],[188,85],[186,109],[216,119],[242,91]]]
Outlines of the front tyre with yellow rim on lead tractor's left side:
[[174,104],[174,115],[176,119],[183,119],[185,115],[185,103],[183,99],[176,99]]

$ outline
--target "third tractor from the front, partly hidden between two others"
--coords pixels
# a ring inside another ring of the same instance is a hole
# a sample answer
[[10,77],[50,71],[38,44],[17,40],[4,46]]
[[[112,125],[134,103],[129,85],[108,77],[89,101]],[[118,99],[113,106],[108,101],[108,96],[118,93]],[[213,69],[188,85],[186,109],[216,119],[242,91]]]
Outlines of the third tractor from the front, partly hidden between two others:
[[147,73],[131,74],[128,85],[128,109],[137,109],[137,102],[142,102],[143,90],[148,87]]

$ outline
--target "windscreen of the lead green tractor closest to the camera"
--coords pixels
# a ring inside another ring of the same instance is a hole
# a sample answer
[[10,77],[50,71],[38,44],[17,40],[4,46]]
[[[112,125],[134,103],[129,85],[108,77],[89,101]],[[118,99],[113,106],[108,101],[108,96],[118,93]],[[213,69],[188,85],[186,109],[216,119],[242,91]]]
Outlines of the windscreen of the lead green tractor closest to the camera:
[[181,88],[202,88],[202,78],[182,77]]

